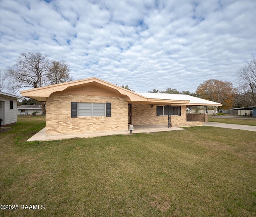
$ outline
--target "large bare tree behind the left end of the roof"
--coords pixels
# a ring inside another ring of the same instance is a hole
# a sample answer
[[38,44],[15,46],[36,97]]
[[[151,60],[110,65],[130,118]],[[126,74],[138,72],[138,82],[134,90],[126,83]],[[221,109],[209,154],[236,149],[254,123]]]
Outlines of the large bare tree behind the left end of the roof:
[[[7,69],[11,86],[18,90],[24,87],[43,87],[47,84],[49,64],[46,54],[21,53],[17,63]],[[46,114],[45,103],[42,102],[41,105],[43,114]]]

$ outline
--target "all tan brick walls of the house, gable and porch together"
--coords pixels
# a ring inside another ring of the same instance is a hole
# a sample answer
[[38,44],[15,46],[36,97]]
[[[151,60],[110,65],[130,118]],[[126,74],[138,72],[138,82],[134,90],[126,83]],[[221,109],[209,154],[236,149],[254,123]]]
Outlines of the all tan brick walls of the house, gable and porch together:
[[[71,102],[111,103],[111,117],[71,118]],[[46,110],[46,135],[128,130],[126,97],[52,94],[46,101]],[[202,125],[201,119],[194,118],[187,122],[187,115],[186,106],[182,105],[181,116],[172,115],[171,117],[172,126]],[[156,105],[152,107],[151,105],[132,104],[132,124],[168,125],[168,116],[156,116]]]

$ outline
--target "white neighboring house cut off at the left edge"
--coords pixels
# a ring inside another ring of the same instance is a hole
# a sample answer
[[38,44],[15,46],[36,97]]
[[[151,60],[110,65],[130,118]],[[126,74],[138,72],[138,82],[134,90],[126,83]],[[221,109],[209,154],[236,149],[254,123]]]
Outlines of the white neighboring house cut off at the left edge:
[[16,124],[17,99],[24,99],[8,93],[0,92],[0,119],[1,126]]

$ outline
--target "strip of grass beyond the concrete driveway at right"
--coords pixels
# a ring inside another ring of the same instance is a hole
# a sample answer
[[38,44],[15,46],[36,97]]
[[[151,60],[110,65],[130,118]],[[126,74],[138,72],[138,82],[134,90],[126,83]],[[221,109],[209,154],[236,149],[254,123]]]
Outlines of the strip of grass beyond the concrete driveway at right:
[[208,117],[208,121],[219,122],[225,124],[242,124],[256,126],[256,118],[240,119],[240,118],[211,118]]

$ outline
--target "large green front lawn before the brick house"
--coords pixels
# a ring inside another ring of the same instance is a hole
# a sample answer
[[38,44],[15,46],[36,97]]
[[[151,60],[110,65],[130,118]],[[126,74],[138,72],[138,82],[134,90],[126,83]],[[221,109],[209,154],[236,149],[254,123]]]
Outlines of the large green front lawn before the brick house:
[[1,216],[255,216],[256,133],[186,130],[26,142],[44,118],[0,134]]

